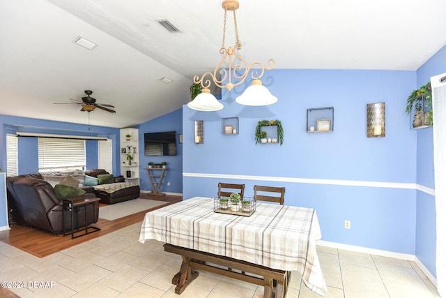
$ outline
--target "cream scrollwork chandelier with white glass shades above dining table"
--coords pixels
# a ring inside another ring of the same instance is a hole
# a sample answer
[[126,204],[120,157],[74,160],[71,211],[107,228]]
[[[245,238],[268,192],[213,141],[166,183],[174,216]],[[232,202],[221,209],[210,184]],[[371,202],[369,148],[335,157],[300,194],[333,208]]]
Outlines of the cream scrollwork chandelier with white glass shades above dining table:
[[[214,84],[219,88],[226,88],[229,91],[243,82],[245,82],[248,77],[249,72],[253,79],[252,85],[249,86],[242,95],[236,98],[236,102],[241,105],[270,105],[277,101],[277,97],[273,96],[266,87],[263,86],[260,78],[263,76],[265,70],[270,70],[274,68],[275,61],[270,59],[268,61],[269,66],[263,66],[259,61],[252,62],[252,64],[247,64],[245,59],[238,55],[238,50],[242,49],[242,44],[238,40],[238,28],[237,28],[237,18],[236,10],[238,9],[239,3],[237,0],[224,0],[222,7],[224,8],[224,22],[223,22],[223,41],[222,47],[220,47],[220,54],[222,54],[222,60],[215,67],[213,73],[204,73],[201,77],[198,75],[194,76],[194,84],[201,85],[201,94],[196,96],[194,100],[187,103],[187,106],[193,110],[198,111],[217,111],[223,108],[222,103],[220,103],[213,94],[210,93],[210,83],[212,80]],[[233,47],[226,47],[224,45],[224,38],[226,33],[226,13],[227,11],[233,11],[234,26],[236,28],[236,44]],[[240,64],[233,66],[233,57],[240,61]],[[224,61],[228,59],[229,68],[221,68]],[[255,68],[254,68],[255,67]],[[245,71],[240,73],[243,69]],[[217,72],[220,73],[220,79],[217,78]],[[236,82],[233,82],[233,79]],[[226,84],[223,84],[226,82]]]

